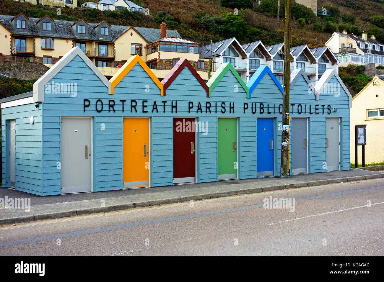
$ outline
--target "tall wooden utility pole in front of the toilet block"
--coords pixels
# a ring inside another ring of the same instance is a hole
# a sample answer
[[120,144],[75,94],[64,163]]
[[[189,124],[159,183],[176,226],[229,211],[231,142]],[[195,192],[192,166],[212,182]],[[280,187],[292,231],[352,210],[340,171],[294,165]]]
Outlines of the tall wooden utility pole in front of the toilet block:
[[[285,0],[285,32],[284,32],[284,75],[283,75],[283,131],[281,132],[281,168],[280,176],[288,175],[289,153],[289,94],[290,94],[290,49],[291,49],[291,0]],[[288,125],[284,126],[284,125]],[[288,142],[288,144],[287,144]]]

